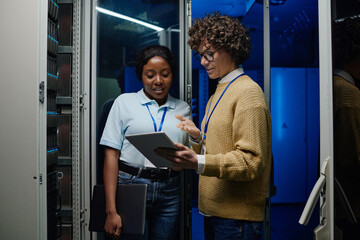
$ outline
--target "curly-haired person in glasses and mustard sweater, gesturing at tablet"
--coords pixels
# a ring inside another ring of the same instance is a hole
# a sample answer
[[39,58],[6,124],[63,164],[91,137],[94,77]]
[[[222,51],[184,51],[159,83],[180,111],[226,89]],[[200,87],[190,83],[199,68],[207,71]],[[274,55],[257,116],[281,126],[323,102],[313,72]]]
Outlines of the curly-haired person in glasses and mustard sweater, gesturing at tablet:
[[184,117],[192,149],[156,152],[199,176],[205,239],[259,239],[271,168],[271,118],[262,89],[241,64],[251,52],[248,31],[215,13],[194,21],[188,44],[210,79],[218,81],[201,130]]

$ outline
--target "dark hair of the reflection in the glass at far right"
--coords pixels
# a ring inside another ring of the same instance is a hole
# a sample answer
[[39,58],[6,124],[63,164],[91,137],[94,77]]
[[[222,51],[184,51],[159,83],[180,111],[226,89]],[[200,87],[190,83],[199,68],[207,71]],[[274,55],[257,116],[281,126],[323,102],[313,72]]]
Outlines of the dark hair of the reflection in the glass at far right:
[[333,23],[333,65],[342,69],[360,56],[360,18],[346,18]]

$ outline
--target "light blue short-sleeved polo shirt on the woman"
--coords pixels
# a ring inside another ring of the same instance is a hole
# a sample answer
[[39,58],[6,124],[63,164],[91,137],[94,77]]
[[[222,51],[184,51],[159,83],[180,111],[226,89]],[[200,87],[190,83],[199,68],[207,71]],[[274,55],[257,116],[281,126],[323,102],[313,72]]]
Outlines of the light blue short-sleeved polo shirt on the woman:
[[146,104],[149,106],[158,129],[164,109],[167,107],[161,131],[165,132],[173,142],[189,145],[187,133],[176,127],[180,121],[175,118],[175,115],[179,114],[191,120],[190,106],[186,102],[173,98],[168,94],[166,103],[159,107],[155,100],[151,100],[145,95],[143,89],[137,93],[121,94],[115,99],[110,110],[100,144],[120,150],[120,160],[135,167],[154,167],[125,138],[126,135],[130,134],[155,131]]

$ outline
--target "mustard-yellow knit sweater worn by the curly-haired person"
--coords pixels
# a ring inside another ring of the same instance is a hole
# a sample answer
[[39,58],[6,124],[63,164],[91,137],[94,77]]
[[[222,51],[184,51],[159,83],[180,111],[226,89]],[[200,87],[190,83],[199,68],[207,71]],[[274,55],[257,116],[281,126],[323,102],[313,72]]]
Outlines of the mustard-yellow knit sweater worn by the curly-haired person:
[[[210,112],[227,84],[218,84]],[[205,118],[202,130],[204,124]],[[262,221],[271,168],[271,117],[262,89],[250,77],[235,80],[221,98],[209,121],[205,145],[199,210]],[[199,145],[192,148],[200,153]]]

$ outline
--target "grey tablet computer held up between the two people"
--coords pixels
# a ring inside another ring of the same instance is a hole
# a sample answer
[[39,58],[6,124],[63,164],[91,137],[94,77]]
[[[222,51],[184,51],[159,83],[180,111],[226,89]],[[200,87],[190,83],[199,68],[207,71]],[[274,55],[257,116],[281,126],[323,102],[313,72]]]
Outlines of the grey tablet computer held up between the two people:
[[157,155],[154,150],[157,147],[176,149],[174,143],[164,132],[151,132],[127,135],[125,138],[136,147],[156,167],[173,167],[169,160]]

